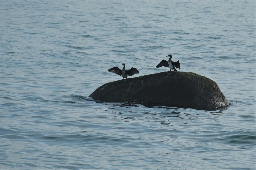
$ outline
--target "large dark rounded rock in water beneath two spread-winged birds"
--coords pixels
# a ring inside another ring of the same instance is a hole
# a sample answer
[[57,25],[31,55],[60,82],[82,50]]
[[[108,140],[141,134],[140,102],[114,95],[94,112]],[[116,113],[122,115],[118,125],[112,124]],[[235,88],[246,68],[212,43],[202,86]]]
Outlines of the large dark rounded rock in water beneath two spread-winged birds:
[[142,102],[202,110],[229,104],[213,80],[180,71],[110,82],[100,86],[90,97],[104,102]]

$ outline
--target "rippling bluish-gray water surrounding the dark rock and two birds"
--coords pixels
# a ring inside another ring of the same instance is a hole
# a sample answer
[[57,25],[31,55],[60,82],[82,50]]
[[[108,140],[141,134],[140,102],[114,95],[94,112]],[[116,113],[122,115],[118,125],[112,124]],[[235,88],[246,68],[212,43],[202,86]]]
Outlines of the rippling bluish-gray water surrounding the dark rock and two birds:
[[[255,169],[255,1],[1,1],[0,169]],[[212,111],[89,96],[168,54]]]

